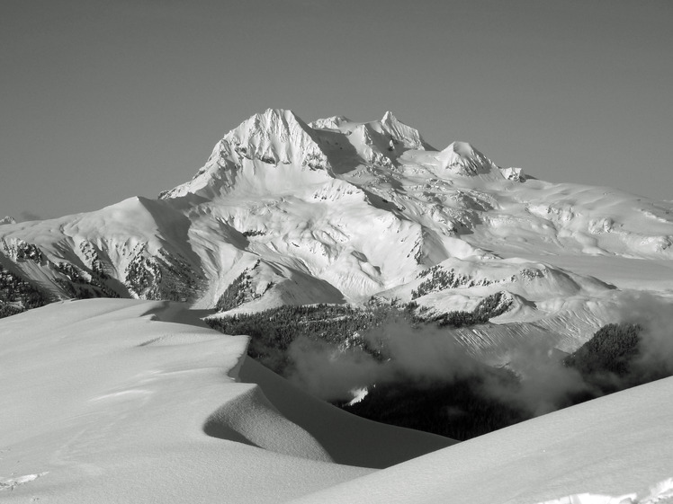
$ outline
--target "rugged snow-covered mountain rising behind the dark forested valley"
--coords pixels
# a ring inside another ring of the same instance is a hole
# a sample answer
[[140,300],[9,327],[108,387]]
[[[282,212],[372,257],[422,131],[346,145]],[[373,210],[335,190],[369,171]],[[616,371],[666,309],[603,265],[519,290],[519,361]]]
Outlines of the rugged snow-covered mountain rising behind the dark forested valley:
[[466,142],[437,150],[390,112],[268,110],[158,199],[4,219],[0,297],[5,314],[93,296],[248,312],[413,300],[441,314],[506,293],[489,337],[462,329],[465,345],[486,355],[534,326],[570,351],[613,322],[620,289],[666,291],[671,243],[669,202],[539,181]]

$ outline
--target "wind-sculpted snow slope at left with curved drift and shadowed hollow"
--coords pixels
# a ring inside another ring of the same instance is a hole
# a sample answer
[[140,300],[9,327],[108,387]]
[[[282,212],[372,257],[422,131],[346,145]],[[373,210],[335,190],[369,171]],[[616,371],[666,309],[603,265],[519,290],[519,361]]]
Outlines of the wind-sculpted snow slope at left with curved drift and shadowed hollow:
[[277,502],[372,472],[334,460],[452,443],[311,399],[243,365],[246,337],[193,323],[183,305],[111,299],[0,321],[0,500]]

